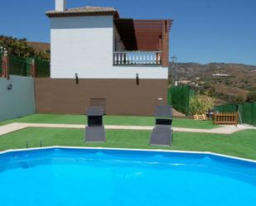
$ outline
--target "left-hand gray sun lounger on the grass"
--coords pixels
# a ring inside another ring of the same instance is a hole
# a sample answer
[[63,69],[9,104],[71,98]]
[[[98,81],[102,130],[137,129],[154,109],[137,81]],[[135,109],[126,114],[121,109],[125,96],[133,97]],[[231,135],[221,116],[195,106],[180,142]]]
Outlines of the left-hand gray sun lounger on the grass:
[[105,142],[106,134],[103,125],[104,108],[90,107],[87,109],[88,126],[85,127],[86,142]]

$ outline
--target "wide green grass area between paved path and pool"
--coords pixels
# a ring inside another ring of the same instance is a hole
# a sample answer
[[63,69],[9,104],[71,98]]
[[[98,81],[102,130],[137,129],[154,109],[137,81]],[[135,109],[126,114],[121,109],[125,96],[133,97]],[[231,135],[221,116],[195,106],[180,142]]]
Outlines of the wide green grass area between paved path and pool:
[[232,135],[174,132],[173,146],[148,146],[150,131],[107,130],[106,143],[85,143],[84,130],[27,128],[0,137],[0,150],[43,146],[102,146],[181,151],[211,151],[256,160],[256,130]]

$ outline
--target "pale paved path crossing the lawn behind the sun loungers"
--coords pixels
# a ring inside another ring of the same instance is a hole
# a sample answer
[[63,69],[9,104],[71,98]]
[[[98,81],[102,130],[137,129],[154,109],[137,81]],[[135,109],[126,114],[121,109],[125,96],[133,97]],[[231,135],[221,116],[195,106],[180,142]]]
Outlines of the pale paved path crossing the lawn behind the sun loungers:
[[[27,127],[47,127],[47,128],[75,128],[84,129],[85,125],[82,124],[44,124],[44,123],[21,123],[14,122],[4,126],[0,126],[0,136],[10,132],[15,132]],[[152,126],[118,126],[118,125],[105,125],[106,129],[116,130],[152,130]],[[212,129],[192,129],[183,127],[173,127],[174,132],[202,132],[202,133],[215,133],[215,134],[232,134],[246,129],[256,129],[256,127],[250,127],[246,125],[239,125],[238,127],[226,126],[216,127]]]

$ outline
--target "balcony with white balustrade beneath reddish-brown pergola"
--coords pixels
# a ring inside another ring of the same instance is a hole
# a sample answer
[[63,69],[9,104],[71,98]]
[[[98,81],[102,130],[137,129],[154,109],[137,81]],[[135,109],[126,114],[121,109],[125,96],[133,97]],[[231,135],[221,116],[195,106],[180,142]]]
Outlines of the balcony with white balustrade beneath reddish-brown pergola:
[[168,66],[171,20],[114,19],[113,65]]

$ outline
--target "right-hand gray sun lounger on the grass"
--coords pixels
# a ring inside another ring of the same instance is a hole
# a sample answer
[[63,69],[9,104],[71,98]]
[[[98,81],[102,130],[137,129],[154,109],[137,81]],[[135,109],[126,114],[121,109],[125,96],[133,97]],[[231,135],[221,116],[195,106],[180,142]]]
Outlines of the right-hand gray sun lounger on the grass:
[[149,145],[151,146],[171,146],[172,144],[172,107],[157,106],[156,126],[153,128]]

